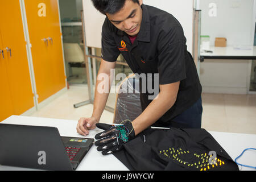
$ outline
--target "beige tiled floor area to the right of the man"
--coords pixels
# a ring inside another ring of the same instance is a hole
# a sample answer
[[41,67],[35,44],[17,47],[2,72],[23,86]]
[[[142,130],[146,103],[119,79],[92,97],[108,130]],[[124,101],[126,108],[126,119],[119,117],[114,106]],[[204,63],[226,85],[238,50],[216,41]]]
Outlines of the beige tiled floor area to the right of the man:
[[203,93],[202,127],[256,134],[256,95]]

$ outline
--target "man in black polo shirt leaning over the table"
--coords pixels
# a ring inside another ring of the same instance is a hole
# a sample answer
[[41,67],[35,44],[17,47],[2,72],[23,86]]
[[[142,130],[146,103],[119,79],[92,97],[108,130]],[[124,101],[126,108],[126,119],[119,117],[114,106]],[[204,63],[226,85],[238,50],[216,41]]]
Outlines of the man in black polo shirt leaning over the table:
[[[149,100],[148,93],[141,94],[143,113],[125,125],[129,134],[135,136],[152,125],[200,128],[201,85],[177,19],[142,0],[92,2],[106,15],[98,74],[108,74],[110,85],[110,69],[120,53],[134,73],[159,73],[158,97]],[[77,125],[77,132],[85,136],[100,121],[108,99],[108,93],[98,93],[98,83],[92,117],[81,118]]]

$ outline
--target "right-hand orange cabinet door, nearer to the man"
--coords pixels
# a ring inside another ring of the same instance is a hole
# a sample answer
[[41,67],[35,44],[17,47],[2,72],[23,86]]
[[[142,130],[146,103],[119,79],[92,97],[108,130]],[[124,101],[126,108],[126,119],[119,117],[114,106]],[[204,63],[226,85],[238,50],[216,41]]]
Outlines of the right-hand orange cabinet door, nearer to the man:
[[25,0],[38,102],[65,88],[57,0]]

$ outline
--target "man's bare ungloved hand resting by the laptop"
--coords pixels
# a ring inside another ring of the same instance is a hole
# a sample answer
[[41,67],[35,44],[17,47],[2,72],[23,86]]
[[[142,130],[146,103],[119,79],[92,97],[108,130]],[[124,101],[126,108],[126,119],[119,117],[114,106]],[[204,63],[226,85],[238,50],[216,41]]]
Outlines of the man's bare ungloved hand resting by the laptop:
[[97,120],[94,117],[80,118],[77,123],[76,131],[80,135],[84,135],[86,137],[89,134],[89,130],[93,130],[96,128],[96,123]]

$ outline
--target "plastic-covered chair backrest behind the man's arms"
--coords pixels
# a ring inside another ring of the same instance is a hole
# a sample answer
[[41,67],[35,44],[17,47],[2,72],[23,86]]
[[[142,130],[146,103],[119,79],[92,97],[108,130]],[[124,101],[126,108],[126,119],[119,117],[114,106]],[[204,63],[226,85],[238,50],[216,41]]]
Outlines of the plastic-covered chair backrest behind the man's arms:
[[126,77],[119,85],[115,98],[113,123],[121,123],[125,119],[133,121],[142,113],[139,79],[135,75]]

